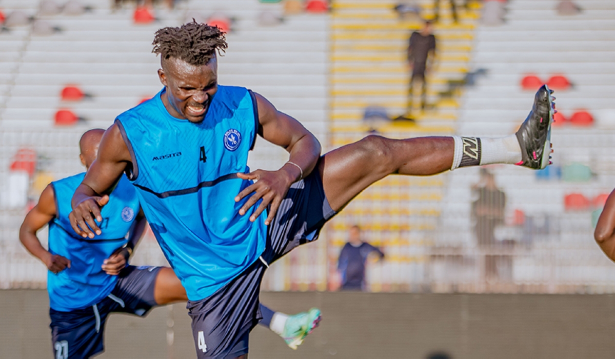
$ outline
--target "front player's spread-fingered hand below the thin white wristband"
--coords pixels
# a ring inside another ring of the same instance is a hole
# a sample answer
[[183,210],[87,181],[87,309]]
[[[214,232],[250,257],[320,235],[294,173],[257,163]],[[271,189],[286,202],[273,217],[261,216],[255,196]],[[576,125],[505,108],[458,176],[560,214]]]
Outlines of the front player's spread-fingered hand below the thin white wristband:
[[254,192],[252,197],[250,197],[240,208],[239,214],[242,216],[245,215],[250,207],[255,205],[258,200],[263,199],[260,206],[258,206],[256,211],[250,216],[250,221],[256,221],[256,218],[263,213],[267,206],[271,205],[269,215],[267,219],[265,219],[266,225],[269,225],[269,223],[273,221],[274,216],[276,216],[277,208],[280,207],[280,203],[282,203],[282,200],[286,196],[286,192],[288,192],[290,185],[293,184],[296,179],[293,178],[287,170],[284,170],[284,168],[275,172],[256,170],[251,173],[237,173],[237,176],[241,179],[252,179],[257,181],[251,186],[246,187],[244,191],[241,191],[237,197],[235,197],[235,202],[239,202]]

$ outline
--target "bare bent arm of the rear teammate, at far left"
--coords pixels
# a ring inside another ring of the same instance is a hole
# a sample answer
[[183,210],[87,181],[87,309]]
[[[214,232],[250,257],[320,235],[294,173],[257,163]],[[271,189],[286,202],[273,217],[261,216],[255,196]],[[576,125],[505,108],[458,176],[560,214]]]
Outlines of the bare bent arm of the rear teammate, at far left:
[[36,232],[44,227],[49,221],[55,218],[57,209],[55,207],[54,187],[49,185],[41,193],[39,202],[23,219],[22,227],[19,229],[19,240],[33,256],[47,266],[47,269],[54,273],[71,267],[71,261],[58,254],[51,254],[41,245],[41,241],[36,237]]

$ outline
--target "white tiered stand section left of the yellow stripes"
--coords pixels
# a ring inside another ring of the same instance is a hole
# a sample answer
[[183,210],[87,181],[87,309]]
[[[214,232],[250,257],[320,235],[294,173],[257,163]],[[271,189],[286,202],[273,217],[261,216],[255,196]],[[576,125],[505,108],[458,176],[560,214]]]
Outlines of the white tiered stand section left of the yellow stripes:
[[[108,127],[117,114],[161,89],[156,76],[159,59],[151,54],[153,34],[162,26],[180,25],[189,11],[200,12],[205,18],[225,14],[236,20],[228,34],[228,53],[220,57],[221,84],[243,85],[261,93],[279,109],[300,119],[323,144],[327,143],[327,14],[293,15],[280,25],[264,27],[258,25],[258,14],[264,10],[282,13],[283,4],[194,0],[178,2],[171,12],[154,9],[157,22],[135,25],[133,9],[112,12],[108,0],[83,0],[82,4],[91,10],[77,16],[65,12],[43,16],[38,13],[39,0],[1,3],[8,14],[19,10],[60,26],[63,31],[35,37],[31,26],[22,26],[0,33],[0,186],[6,187],[10,157],[23,146],[32,146],[39,157],[44,157],[44,166],[39,165],[37,172],[46,176],[50,173],[55,179],[81,172],[76,146],[80,133],[87,128]],[[63,100],[63,90],[69,84],[77,84],[82,93],[91,96],[82,101]],[[56,129],[56,114],[63,109],[74,114],[68,116],[71,123],[76,117],[87,120]],[[272,169],[284,162],[283,150],[263,143],[250,157],[252,168]],[[30,193],[28,198],[36,199],[38,193]],[[17,229],[24,210],[0,210],[2,288],[45,282],[44,267],[18,245]],[[320,243],[326,247],[326,241]],[[135,261],[164,262],[154,243],[143,244]],[[314,248],[319,250],[322,248]],[[314,255],[285,261],[303,266],[293,274],[294,282],[319,282],[323,288],[326,265],[320,263],[320,272],[307,270],[309,266],[304,262],[311,257]],[[322,258],[326,260],[326,256]],[[286,275],[282,268],[279,272]],[[276,273],[276,269],[271,270],[271,275]],[[281,283],[276,289],[287,289],[290,282],[290,277],[276,281]]]

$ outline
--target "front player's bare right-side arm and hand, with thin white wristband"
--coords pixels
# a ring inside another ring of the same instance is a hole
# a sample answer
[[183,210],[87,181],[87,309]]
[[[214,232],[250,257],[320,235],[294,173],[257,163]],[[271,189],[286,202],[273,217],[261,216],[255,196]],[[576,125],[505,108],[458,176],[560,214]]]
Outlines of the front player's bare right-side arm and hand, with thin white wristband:
[[277,208],[288,192],[290,185],[314,170],[320,157],[320,143],[298,120],[278,111],[258,93],[255,95],[258,105],[258,120],[263,130],[261,136],[265,140],[286,149],[290,154],[290,159],[280,170],[274,172],[256,170],[248,174],[239,173],[239,178],[256,179],[258,182],[240,192],[235,201],[239,202],[248,194],[254,192],[252,197],[239,210],[239,214],[245,215],[248,208],[262,198],[263,202],[250,216],[250,221],[255,221],[265,208],[271,205],[269,215],[265,220],[265,224],[269,224],[276,215]]

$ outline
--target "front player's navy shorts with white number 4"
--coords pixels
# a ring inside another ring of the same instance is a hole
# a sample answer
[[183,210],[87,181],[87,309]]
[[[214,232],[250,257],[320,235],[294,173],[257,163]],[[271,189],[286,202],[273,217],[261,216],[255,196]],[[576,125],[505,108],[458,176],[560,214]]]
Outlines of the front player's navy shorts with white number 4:
[[268,226],[260,260],[208,298],[188,301],[197,358],[234,359],[248,353],[248,335],[263,318],[258,295],[266,268],[293,248],[317,239],[334,215],[317,169],[293,183]]

